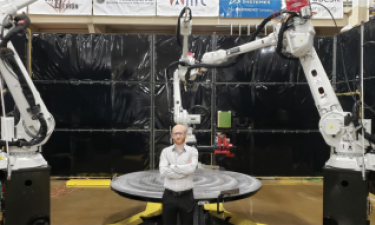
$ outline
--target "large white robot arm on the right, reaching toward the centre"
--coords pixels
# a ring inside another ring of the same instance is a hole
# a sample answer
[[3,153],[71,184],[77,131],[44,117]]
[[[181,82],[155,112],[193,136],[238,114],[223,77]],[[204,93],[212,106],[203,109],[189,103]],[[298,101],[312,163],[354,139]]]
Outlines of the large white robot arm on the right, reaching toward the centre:
[[[206,53],[202,58],[202,65],[210,65],[212,68],[233,56],[267,46],[277,46],[277,49],[284,50],[284,58],[299,59],[321,117],[319,130],[325,142],[335,148],[326,164],[345,169],[375,170],[375,155],[365,154],[362,150],[371,144],[370,140],[362,142],[362,135],[358,132],[362,128],[355,125],[358,120],[353,120],[351,113],[343,111],[313,47],[315,31],[310,23],[310,6],[305,5],[298,8],[298,11],[282,13],[287,13],[284,23],[279,24],[267,37],[229,50]],[[365,137],[373,140],[370,135],[371,121],[362,121],[367,131]]]

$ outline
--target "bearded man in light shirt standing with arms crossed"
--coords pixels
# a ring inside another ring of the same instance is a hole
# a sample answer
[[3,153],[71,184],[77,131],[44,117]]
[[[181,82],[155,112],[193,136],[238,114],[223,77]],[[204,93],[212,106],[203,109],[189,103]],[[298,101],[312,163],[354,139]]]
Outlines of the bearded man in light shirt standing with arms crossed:
[[193,173],[198,164],[198,151],[187,146],[184,125],[172,130],[174,145],[163,149],[159,170],[165,177],[163,194],[163,223],[176,225],[177,215],[181,225],[192,225],[194,219]]

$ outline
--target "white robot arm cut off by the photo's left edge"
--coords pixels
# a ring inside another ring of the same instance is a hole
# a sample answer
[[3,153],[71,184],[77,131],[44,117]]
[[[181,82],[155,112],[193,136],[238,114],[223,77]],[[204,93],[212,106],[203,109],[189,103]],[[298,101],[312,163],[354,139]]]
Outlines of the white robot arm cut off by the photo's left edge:
[[[1,146],[9,146],[0,153],[0,169],[10,170],[46,166],[39,152],[50,137],[55,122],[43,103],[22,61],[9,42],[13,35],[25,31],[30,24],[28,17],[12,17],[19,9],[36,0],[5,0],[0,2],[2,32],[0,41],[0,73],[7,84],[20,114],[1,118]],[[4,103],[3,103],[4,104]],[[9,173],[8,173],[9,176]]]

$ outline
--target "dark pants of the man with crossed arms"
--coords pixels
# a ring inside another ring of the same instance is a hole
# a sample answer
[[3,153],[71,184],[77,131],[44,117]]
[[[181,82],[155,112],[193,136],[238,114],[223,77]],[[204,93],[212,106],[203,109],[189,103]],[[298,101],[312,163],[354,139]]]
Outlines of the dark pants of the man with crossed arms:
[[194,206],[193,190],[178,193],[166,189],[163,194],[163,224],[176,225],[178,215],[181,225],[193,225]]

